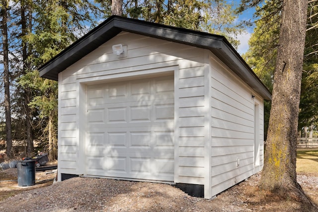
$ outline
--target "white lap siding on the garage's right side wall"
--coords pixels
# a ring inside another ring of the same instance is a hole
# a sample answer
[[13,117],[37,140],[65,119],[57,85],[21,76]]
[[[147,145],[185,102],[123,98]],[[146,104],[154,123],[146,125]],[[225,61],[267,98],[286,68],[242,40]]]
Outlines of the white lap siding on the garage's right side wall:
[[[253,174],[254,103],[251,90],[211,59],[212,196]],[[239,166],[237,166],[239,159]]]

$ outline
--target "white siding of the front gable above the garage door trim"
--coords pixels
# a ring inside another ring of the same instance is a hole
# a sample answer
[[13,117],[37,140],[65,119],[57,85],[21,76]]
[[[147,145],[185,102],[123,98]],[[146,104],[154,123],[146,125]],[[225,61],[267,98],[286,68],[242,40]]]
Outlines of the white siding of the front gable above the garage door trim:
[[[119,43],[127,45],[127,57],[117,58],[112,53],[112,45]],[[85,78],[172,65],[179,65],[180,69],[197,67],[200,52],[202,50],[186,45],[123,33],[87,54],[66,69],[64,75]]]

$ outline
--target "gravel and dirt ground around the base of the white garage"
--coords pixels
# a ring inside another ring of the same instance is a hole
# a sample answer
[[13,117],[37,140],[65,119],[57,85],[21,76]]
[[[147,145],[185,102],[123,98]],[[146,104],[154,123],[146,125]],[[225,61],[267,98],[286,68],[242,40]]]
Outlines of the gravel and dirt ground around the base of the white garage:
[[[15,172],[14,172],[15,171]],[[16,169],[0,172],[0,180],[16,177]],[[260,173],[213,200],[188,196],[166,184],[76,177],[53,184],[55,174],[36,173],[36,185],[0,182],[1,211],[94,212],[239,212],[306,211],[306,206],[257,189]],[[318,176],[299,174],[298,181],[318,204]],[[43,183],[45,182],[45,183]],[[16,192],[12,197],[2,196]]]

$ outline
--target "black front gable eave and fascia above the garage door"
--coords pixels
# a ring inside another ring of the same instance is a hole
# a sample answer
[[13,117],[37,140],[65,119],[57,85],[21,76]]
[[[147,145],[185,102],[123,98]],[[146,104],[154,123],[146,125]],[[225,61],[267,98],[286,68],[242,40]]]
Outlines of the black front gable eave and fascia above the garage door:
[[[223,36],[211,36],[208,33],[165,26],[137,19],[111,16],[78,41],[39,68],[40,76],[58,80],[58,73],[78,61],[84,55],[92,52],[101,44],[115,37],[121,31],[137,33],[172,42],[187,44],[200,48],[221,48]],[[208,38],[208,39],[207,39]],[[211,39],[212,38],[212,39]],[[54,72],[56,76],[52,73]]]

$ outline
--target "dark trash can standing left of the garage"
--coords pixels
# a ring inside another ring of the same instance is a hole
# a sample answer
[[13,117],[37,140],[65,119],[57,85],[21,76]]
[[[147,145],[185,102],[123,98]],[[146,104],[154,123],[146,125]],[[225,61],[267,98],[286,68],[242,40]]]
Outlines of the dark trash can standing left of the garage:
[[18,186],[35,185],[35,160],[16,161]]

